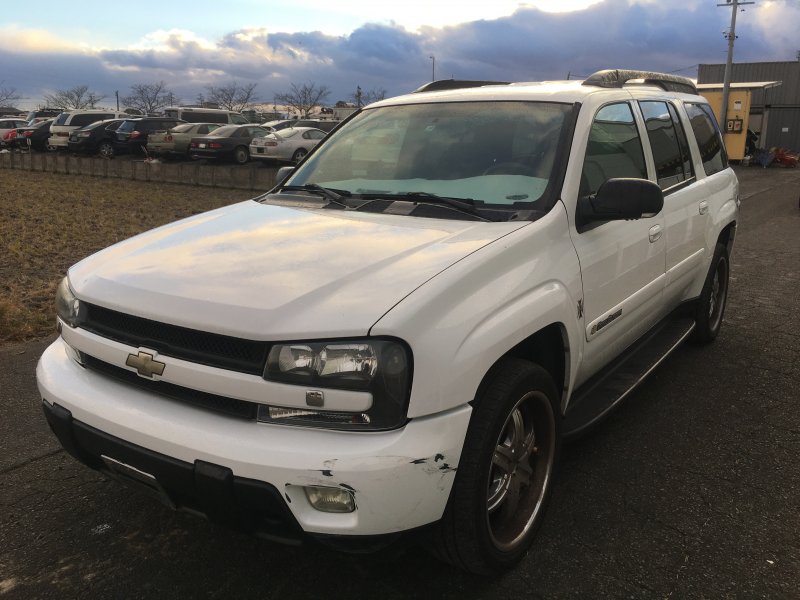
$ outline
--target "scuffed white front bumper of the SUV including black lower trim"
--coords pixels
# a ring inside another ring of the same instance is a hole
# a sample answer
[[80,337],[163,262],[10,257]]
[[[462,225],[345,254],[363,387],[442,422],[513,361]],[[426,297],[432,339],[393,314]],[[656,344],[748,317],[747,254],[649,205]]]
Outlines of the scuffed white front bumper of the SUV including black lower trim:
[[[242,421],[85,369],[70,357],[62,338],[42,355],[37,381],[45,411],[60,415],[57,420],[48,417],[56,423],[59,439],[86,464],[102,469],[101,455],[108,456],[153,475],[176,505],[212,517],[224,515],[222,507],[228,506],[237,515],[236,523],[244,519],[262,533],[268,533],[261,531],[263,519],[267,524],[272,519],[278,537],[293,531],[385,535],[437,521],[447,504],[471,415],[463,406],[376,433]],[[71,425],[57,424],[65,421]],[[198,465],[232,482],[224,484],[225,494],[213,492],[209,500],[203,486],[190,485]],[[263,514],[253,515],[252,506],[231,500],[241,495],[237,481],[261,490],[258,498],[268,507]],[[187,499],[180,491],[187,485],[202,493]],[[337,514],[314,509],[304,491],[309,485],[352,490],[356,510]]]

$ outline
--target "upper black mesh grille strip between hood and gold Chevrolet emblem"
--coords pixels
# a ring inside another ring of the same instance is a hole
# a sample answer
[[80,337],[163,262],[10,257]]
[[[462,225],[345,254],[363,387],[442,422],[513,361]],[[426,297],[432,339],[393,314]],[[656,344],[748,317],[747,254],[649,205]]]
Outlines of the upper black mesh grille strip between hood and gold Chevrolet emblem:
[[150,348],[159,354],[250,375],[261,375],[269,344],[187,327],[159,323],[82,303],[81,327],[134,348]]

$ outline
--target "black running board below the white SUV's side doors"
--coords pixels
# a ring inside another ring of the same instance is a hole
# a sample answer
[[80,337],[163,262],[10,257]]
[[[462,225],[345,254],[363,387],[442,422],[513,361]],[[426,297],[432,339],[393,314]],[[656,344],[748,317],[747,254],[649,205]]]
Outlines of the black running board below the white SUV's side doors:
[[575,390],[564,415],[564,437],[578,437],[611,412],[693,329],[690,317],[667,318]]

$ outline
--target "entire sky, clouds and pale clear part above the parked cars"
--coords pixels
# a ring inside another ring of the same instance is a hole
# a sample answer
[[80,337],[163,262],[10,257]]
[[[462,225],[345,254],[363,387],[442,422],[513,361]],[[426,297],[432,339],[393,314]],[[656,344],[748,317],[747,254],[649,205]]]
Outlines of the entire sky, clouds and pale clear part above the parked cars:
[[[114,92],[164,81],[184,103],[208,86],[257,84],[271,104],[292,84],[395,96],[436,79],[538,81],[605,68],[695,77],[724,63],[731,9],[716,0],[40,0],[0,16],[0,89],[29,109],[88,85]],[[737,14],[736,62],[796,60],[800,0]],[[431,58],[433,57],[433,58]]]

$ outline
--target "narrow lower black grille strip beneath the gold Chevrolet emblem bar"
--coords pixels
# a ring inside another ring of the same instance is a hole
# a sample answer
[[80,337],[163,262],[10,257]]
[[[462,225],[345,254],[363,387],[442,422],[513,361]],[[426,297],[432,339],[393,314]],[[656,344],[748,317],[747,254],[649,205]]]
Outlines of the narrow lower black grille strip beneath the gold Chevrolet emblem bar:
[[155,392],[156,394],[161,394],[162,396],[167,396],[173,400],[180,400],[181,402],[197,406],[198,408],[213,410],[230,417],[255,421],[258,413],[258,404],[254,402],[200,392],[173,383],[167,383],[166,381],[144,379],[133,371],[116,367],[93,356],[83,355],[83,364],[88,369],[124,381],[129,385],[143,388]]

